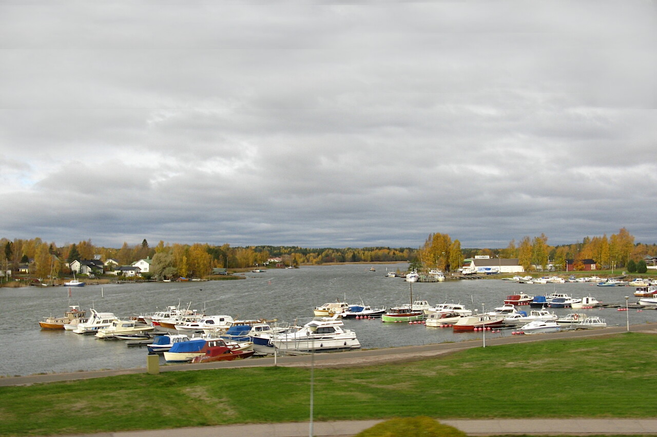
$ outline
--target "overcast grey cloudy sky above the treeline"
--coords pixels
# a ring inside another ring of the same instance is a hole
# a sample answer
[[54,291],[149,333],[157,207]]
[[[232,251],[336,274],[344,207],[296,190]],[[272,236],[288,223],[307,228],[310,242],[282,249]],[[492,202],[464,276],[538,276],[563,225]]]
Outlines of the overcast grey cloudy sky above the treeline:
[[0,0],[0,48],[0,237],[657,242],[654,0]]

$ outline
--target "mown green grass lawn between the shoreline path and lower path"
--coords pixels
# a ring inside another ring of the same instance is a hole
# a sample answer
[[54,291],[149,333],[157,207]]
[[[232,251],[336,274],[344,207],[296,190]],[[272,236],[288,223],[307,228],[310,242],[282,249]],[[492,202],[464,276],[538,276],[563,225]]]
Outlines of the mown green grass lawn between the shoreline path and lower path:
[[[405,365],[315,368],[315,420],[645,417],[657,336],[474,348]],[[307,421],[309,369],[141,373],[0,387],[5,436]],[[522,404],[522,407],[520,407]]]

